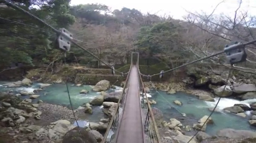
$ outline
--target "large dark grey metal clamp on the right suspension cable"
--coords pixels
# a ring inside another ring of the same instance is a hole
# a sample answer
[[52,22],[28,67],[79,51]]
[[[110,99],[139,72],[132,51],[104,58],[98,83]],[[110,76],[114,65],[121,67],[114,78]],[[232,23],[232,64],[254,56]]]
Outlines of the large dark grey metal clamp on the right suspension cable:
[[230,64],[246,61],[247,54],[244,47],[243,44],[238,42],[235,42],[235,44],[230,46],[226,45],[224,51],[227,54],[227,61]]

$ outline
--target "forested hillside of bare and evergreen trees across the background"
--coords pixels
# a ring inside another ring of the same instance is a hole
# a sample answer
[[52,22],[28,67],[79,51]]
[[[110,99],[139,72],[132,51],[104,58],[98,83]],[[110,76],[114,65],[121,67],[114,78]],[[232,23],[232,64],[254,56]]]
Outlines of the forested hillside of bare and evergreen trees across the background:
[[[222,51],[230,41],[245,42],[256,36],[255,17],[239,8],[233,17],[188,13],[184,20],[175,20],[170,16],[143,14],[137,9],[111,10],[101,4],[70,6],[70,0],[9,1],[55,28],[69,29],[75,39],[83,41],[77,41],[79,44],[111,65],[125,65],[130,52],[139,51],[145,59],[155,58],[176,67]],[[0,6],[0,17],[0,69],[17,63],[33,67],[63,63],[64,55],[55,48],[55,33],[50,29],[4,4]],[[255,47],[248,48],[247,62],[235,66],[236,69],[255,72],[251,70],[256,68]],[[71,47],[66,60],[81,65],[96,61],[76,46]],[[223,54],[199,65],[212,69],[224,62]]]

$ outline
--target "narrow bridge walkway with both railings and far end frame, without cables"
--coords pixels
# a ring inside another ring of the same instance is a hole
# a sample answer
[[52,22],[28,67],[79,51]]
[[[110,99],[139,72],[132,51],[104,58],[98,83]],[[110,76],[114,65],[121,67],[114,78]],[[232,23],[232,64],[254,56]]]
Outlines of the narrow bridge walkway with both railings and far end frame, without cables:
[[160,143],[160,137],[139,71],[139,53],[131,66],[102,143]]

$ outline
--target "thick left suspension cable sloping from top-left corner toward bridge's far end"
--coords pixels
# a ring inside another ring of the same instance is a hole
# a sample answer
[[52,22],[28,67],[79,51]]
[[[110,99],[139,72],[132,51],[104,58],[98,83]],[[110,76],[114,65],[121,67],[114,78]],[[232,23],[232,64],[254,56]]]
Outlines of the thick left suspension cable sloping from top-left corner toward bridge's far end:
[[[23,13],[29,15],[30,17],[34,18],[35,20],[38,20],[38,22],[43,23],[45,26],[49,27],[50,29],[52,29],[53,31],[55,31],[55,33],[59,34],[60,31],[58,31],[57,29],[55,29],[54,27],[50,26],[48,23],[44,22],[43,20],[41,20],[40,18],[36,17],[35,15],[29,13],[28,11],[20,8],[19,6],[16,6],[13,3],[10,3],[6,0],[0,0],[0,3],[5,3],[7,6],[12,7],[13,9],[17,9],[19,11],[22,11]],[[35,28],[35,27],[34,27]],[[88,51],[87,49],[83,48],[82,46],[80,46],[78,43],[76,43],[74,41],[74,39],[71,41],[74,45],[78,46],[80,49],[86,51],[87,53],[89,53],[91,56],[95,57],[97,60],[101,61],[102,63],[104,63],[106,66],[108,66],[109,68],[111,68],[110,65],[108,65],[105,61],[101,60],[99,57],[97,57],[96,55],[94,55],[93,53],[91,53],[90,51]],[[115,70],[116,72],[118,72],[119,74],[122,74],[121,72]]]

